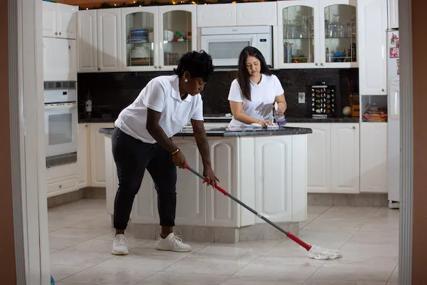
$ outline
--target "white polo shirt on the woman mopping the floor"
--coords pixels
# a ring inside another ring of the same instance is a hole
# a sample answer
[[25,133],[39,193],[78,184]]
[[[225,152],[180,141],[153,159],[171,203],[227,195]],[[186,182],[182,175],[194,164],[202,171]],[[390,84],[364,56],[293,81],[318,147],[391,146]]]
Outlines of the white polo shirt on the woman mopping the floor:
[[156,143],[147,131],[147,108],[162,113],[159,125],[168,138],[176,135],[191,119],[203,120],[201,95],[187,95],[181,100],[176,75],[158,76],[149,81],[135,101],[122,110],[115,126],[133,138]]

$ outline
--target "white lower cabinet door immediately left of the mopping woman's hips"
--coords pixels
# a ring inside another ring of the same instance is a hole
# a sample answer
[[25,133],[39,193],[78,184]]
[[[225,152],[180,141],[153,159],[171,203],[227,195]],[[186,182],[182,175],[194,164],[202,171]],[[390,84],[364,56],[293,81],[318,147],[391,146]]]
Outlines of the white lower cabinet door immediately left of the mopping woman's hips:
[[100,128],[113,128],[114,123],[90,124],[90,177],[92,187],[105,187],[105,141]]

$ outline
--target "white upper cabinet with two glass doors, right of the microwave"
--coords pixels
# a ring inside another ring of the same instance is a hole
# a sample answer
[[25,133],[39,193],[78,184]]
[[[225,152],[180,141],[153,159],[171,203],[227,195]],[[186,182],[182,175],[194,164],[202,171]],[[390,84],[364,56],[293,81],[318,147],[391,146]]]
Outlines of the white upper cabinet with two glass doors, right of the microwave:
[[279,68],[357,67],[355,0],[278,1],[277,10]]

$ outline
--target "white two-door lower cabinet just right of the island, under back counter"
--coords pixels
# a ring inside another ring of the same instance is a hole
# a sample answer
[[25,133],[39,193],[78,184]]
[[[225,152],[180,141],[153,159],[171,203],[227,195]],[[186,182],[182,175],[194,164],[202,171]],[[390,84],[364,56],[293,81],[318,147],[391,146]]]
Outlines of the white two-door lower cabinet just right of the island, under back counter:
[[307,135],[307,192],[359,193],[359,123],[288,123]]

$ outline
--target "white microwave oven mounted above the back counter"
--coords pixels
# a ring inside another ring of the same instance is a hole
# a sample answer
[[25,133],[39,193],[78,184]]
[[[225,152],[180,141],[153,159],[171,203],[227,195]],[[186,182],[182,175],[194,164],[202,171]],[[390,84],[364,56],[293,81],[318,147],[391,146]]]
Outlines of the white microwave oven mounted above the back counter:
[[238,66],[238,56],[246,46],[263,53],[268,66],[273,66],[271,26],[231,26],[201,28],[201,49],[209,53],[216,67]]

